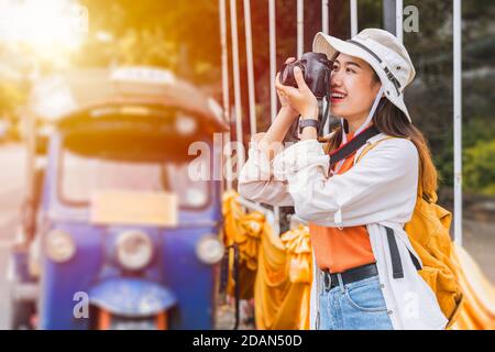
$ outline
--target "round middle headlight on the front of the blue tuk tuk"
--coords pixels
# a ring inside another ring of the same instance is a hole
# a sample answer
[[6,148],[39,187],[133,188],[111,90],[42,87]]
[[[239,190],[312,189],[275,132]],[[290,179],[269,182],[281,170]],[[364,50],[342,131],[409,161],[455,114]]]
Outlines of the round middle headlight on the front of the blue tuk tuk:
[[117,239],[117,260],[130,271],[139,271],[150,264],[153,242],[146,233],[127,231]]

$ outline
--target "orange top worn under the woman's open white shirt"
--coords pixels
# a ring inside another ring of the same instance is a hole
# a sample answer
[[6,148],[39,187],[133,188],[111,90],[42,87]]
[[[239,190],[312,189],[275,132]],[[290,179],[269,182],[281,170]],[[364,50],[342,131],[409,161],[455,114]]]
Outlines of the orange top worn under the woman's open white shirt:
[[[353,133],[348,134],[348,141]],[[354,155],[348,157],[337,174],[343,174],[354,164]],[[320,227],[309,223],[311,244],[318,267],[331,273],[342,273],[346,270],[375,263],[375,256],[370,243],[365,226],[338,228]]]

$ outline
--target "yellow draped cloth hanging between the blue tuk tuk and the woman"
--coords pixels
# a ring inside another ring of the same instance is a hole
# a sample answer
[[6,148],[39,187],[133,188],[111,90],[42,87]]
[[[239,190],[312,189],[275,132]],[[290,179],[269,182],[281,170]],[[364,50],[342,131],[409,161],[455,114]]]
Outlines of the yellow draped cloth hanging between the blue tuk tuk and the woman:
[[[254,296],[257,329],[309,329],[311,250],[306,227],[275,237],[263,213],[246,213],[231,190],[223,195],[226,245],[238,243],[241,299]],[[232,268],[233,258],[230,260]],[[232,270],[231,270],[232,273]],[[234,282],[229,275],[228,293]]]

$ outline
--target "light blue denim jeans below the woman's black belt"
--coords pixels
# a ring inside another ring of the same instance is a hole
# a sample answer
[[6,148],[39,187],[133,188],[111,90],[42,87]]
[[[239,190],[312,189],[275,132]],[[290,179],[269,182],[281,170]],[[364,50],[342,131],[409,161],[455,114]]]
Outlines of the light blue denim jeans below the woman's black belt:
[[320,287],[318,330],[392,330],[378,276],[339,286]]

